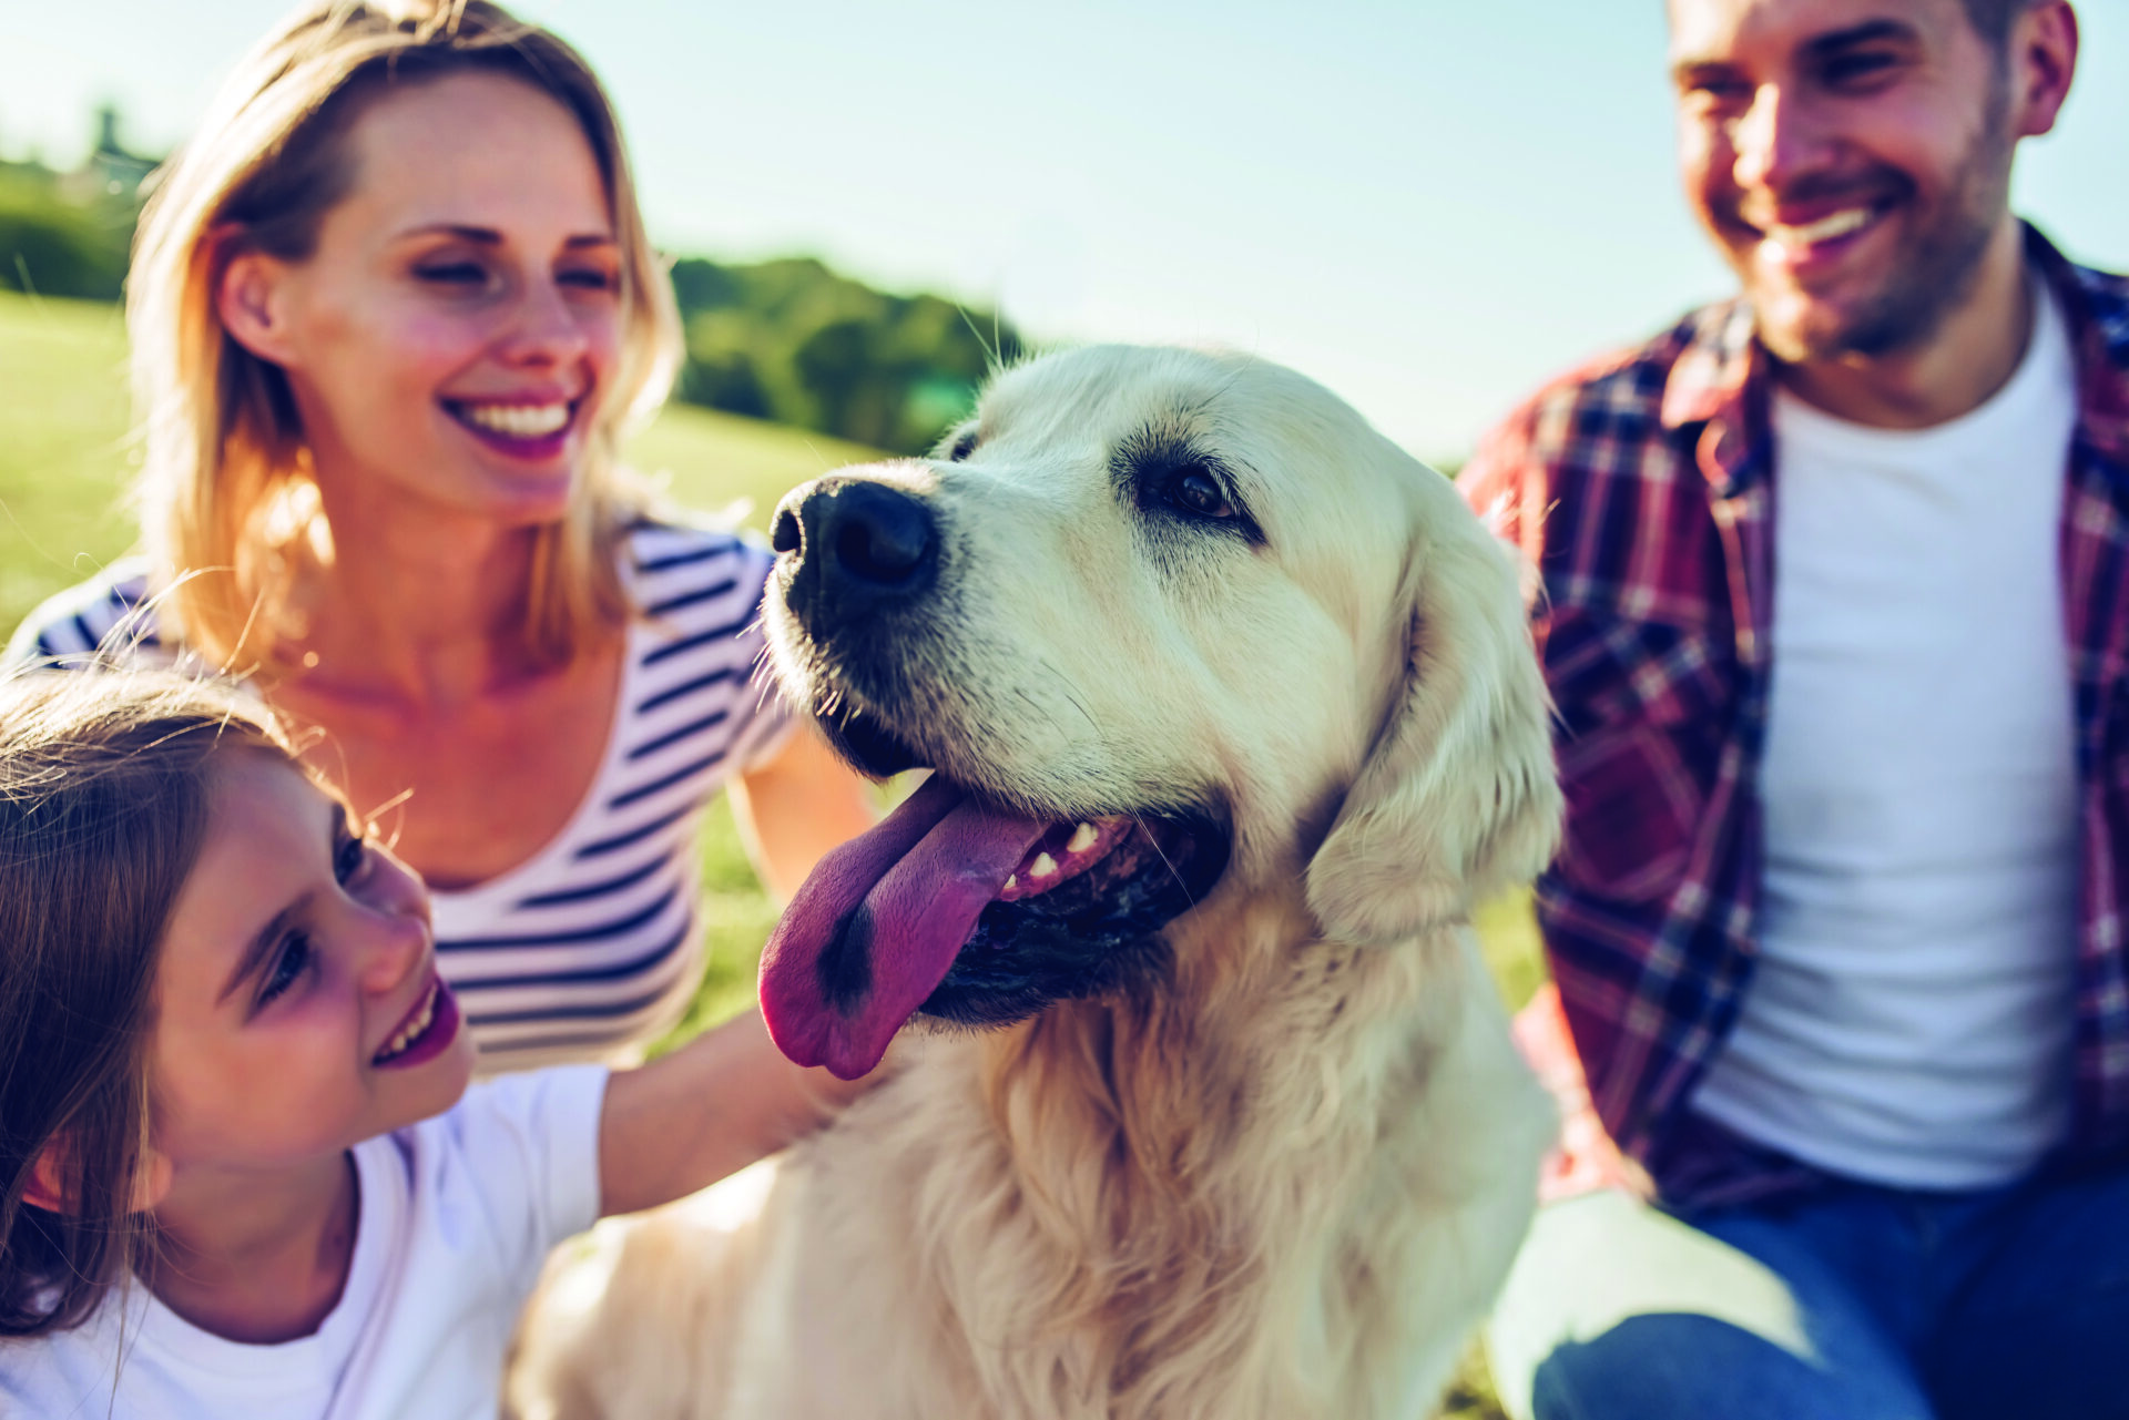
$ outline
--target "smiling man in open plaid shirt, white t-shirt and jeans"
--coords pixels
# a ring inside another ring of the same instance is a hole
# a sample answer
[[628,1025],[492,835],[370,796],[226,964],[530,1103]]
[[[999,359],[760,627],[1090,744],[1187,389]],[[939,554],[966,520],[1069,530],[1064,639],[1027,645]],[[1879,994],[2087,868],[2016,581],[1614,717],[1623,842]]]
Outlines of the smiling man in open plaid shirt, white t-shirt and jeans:
[[1742,296],[1463,479],[1544,577],[1561,711],[1526,1024],[1586,1075],[1569,1145],[1616,1147],[1507,1286],[1503,1399],[2129,1416],[2129,281],[2008,207],[2076,15],[1669,17]]

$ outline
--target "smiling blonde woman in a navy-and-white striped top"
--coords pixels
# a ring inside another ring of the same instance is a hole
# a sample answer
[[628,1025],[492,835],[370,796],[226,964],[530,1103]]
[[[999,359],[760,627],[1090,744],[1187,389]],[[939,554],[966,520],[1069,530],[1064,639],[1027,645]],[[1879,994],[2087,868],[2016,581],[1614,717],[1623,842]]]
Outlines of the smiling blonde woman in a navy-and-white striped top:
[[321,730],[358,809],[400,800],[483,1069],[677,1020],[720,786],[779,894],[871,822],[749,683],[769,554],[622,481],[677,319],[562,40],[483,0],[294,15],[162,177],[128,326],[145,558],[40,607],[15,658],[123,626]]

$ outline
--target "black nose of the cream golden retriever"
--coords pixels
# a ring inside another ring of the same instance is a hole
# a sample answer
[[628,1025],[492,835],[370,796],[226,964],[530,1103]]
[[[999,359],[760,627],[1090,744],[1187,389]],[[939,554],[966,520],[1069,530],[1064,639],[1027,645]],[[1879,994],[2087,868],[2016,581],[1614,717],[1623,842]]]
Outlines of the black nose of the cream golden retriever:
[[809,624],[928,592],[939,524],[915,494],[871,479],[818,479],[777,509],[771,545],[796,554],[786,600]]

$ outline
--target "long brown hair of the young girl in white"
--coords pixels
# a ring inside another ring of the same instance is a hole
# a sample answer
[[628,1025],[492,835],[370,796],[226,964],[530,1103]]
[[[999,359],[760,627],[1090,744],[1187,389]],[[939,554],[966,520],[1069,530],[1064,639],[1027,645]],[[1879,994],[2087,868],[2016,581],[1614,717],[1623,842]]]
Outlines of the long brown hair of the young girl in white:
[[[0,1335],[79,1324],[138,1256],[158,947],[232,745],[294,762],[215,683],[0,681]],[[51,1145],[64,1211],[23,1199]]]

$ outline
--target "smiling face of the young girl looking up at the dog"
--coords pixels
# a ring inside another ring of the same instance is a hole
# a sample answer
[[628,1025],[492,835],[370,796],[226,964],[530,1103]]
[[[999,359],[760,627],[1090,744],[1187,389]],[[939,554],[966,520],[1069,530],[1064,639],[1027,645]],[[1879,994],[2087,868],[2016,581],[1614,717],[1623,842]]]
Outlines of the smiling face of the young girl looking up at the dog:
[[473,1077],[422,881],[266,749],[215,764],[155,996],[151,1143],[177,1175],[317,1160]]

